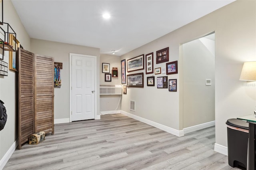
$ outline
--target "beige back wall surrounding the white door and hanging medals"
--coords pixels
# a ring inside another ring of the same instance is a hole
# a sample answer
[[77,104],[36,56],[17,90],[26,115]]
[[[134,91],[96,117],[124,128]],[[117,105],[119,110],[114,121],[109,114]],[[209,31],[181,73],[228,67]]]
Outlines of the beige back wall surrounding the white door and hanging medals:
[[[85,47],[81,45],[72,45],[67,43],[50,42],[45,40],[31,39],[31,52],[40,55],[54,57],[54,62],[63,63],[61,74],[61,88],[54,89],[54,119],[69,119],[69,53],[93,55],[97,57],[97,73],[100,71],[100,49]],[[99,86],[99,76],[97,87]],[[97,89],[99,91],[99,88]],[[98,93],[99,94],[99,93]],[[100,115],[100,101],[97,95],[97,115]]]

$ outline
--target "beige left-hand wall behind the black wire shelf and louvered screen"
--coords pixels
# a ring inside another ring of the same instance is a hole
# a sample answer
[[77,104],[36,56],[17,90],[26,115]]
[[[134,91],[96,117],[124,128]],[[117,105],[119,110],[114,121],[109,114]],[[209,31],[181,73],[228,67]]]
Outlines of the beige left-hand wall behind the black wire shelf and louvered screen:
[[[9,0],[4,1],[4,22],[10,24],[17,34],[17,40],[22,44],[25,49],[30,49],[30,38],[20,22],[20,18]],[[5,51],[4,61],[9,63],[9,52]],[[10,64],[10,63],[9,63]],[[7,110],[7,122],[3,130],[0,131],[0,159],[6,154],[9,148],[16,140],[15,129],[15,75],[14,71],[8,71],[8,76],[0,76],[0,99],[4,101],[4,106]],[[1,165],[0,165],[1,168]]]

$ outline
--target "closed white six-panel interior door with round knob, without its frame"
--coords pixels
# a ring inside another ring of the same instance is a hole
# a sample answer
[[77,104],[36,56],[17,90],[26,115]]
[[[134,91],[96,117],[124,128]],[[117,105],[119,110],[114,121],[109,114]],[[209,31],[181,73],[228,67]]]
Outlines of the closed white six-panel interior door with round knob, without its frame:
[[95,58],[72,54],[72,121],[95,119]]

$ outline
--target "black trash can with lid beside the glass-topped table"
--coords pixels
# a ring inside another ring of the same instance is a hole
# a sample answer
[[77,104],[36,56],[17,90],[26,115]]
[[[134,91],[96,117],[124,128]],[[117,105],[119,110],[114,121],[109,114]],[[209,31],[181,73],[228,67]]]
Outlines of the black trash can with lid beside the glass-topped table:
[[240,169],[247,168],[249,123],[240,119],[226,121],[228,133],[228,164]]

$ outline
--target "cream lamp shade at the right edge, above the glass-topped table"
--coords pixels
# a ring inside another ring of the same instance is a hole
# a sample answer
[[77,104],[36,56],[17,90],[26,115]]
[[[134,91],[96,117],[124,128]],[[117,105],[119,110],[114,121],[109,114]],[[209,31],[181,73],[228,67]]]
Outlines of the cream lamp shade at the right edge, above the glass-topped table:
[[244,62],[239,80],[256,81],[256,61]]

